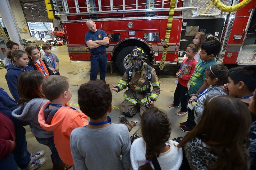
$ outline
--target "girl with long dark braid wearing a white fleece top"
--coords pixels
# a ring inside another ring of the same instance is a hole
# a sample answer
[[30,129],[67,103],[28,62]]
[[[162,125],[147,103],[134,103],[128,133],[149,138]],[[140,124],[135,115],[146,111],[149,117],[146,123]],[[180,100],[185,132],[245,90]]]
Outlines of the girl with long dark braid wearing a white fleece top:
[[163,111],[157,107],[148,109],[141,117],[141,131],[143,138],[136,139],[131,146],[133,170],[157,169],[155,162],[162,170],[180,168],[182,149],[176,147],[175,141],[166,143],[171,135],[171,123]]

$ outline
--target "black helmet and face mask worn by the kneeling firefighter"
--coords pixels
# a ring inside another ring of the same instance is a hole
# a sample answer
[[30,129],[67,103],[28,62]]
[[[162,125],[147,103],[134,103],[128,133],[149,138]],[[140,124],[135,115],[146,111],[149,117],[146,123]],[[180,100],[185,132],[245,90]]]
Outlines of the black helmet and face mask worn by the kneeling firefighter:
[[135,47],[129,59],[132,60],[132,67],[135,71],[139,71],[144,65],[144,58],[146,57],[144,51],[140,47]]

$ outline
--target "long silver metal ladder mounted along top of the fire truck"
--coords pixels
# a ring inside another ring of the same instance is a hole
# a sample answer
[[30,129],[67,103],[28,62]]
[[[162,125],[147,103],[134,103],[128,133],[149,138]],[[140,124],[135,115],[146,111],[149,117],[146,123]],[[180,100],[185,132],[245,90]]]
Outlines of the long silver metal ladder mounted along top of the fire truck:
[[[62,0],[62,6],[53,4],[57,9],[63,9],[63,13],[55,14],[55,16],[76,16],[76,15],[94,15],[94,14],[108,14],[108,13],[128,13],[128,12],[158,12],[169,11],[169,8],[164,8],[164,4],[170,4],[170,0],[147,0],[146,3],[138,4],[138,0],[135,0],[135,4],[125,4],[114,6],[113,0],[110,1],[110,6],[102,6],[101,0],[98,0],[98,6],[95,5],[95,0],[86,0],[86,7],[79,7],[78,0],[74,0],[75,6],[68,6],[67,0]],[[179,0],[183,1],[183,0]],[[192,2],[192,0],[190,0]],[[189,7],[177,7],[178,0],[176,0],[174,11],[190,11],[197,10],[197,6]],[[190,3],[191,4],[191,3]],[[161,6],[161,8],[156,8]],[[76,10],[74,13],[70,13],[69,10]],[[87,10],[87,12],[80,12],[80,10]]]

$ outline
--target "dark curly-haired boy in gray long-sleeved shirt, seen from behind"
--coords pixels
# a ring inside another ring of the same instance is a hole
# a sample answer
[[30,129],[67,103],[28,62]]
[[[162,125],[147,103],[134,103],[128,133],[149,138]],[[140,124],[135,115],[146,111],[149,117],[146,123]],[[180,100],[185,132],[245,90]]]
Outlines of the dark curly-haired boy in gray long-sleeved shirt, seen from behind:
[[112,94],[102,80],[89,81],[78,90],[80,110],[90,117],[89,125],[71,132],[70,147],[75,169],[130,169],[130,136],[124,124],[107,121]]

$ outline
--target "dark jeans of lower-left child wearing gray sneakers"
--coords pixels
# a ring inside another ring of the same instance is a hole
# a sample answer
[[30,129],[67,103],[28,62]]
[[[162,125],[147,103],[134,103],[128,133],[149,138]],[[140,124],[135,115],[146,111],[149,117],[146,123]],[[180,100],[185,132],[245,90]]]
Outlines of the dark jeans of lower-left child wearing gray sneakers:
[[30,163],[30,153],[27,150],[26,129],[24,127],[15,128],[15,133],[16,146],[12,154],[20,169],[24,169]]

